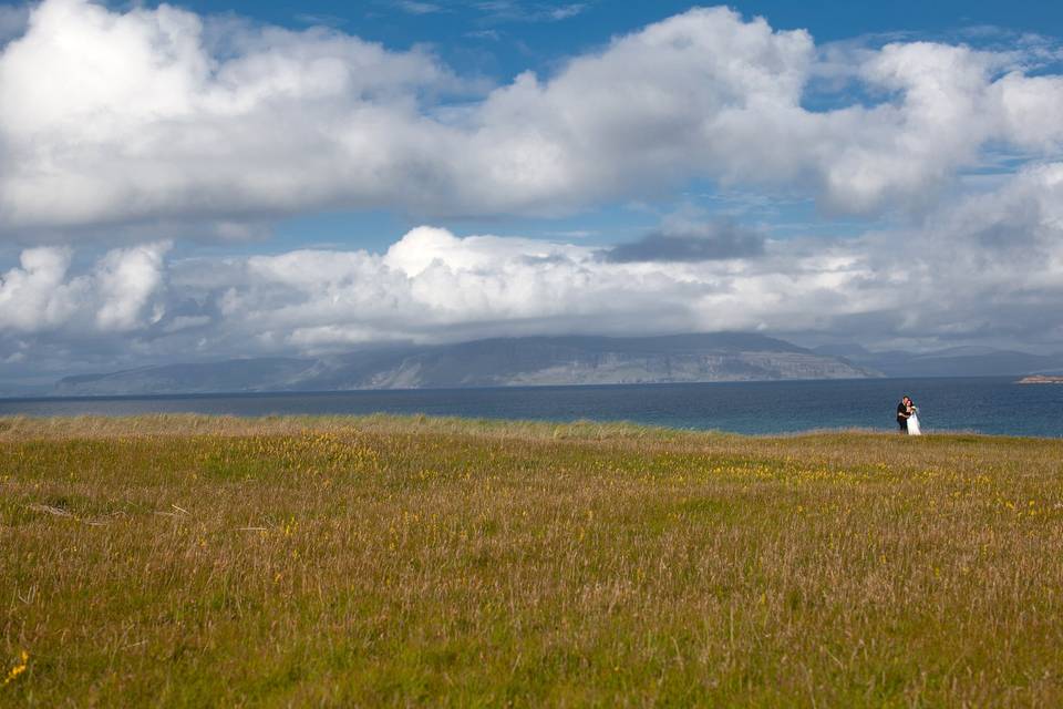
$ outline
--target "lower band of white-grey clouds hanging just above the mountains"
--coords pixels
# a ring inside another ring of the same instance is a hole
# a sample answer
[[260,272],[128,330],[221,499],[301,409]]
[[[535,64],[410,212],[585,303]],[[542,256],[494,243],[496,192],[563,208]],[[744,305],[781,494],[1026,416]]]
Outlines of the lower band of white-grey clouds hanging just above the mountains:
[[382,255],[167,260],[167,245],[155,244],[112,250],[81,274],[68,249],[39,247],[0,281],[0,357],[40,350],[48,361],[50,347],[72,342],[85,351],[121,342],[122,354],[106,356],[122,361],[683,330],[1060,342],[1061,205],[1063,164],[1047,164],[935,212],[925,227],[765,239],[762,253],[727,258],[617,259],[596,247],[433,227]]

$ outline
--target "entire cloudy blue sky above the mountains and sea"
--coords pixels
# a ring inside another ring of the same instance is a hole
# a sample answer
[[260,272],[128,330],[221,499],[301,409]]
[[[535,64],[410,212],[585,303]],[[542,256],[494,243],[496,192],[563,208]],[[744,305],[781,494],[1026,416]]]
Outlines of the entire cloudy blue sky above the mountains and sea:
[[1060,3],[0,3],[0,381],[526,335],[1063,351],[1060,116]]

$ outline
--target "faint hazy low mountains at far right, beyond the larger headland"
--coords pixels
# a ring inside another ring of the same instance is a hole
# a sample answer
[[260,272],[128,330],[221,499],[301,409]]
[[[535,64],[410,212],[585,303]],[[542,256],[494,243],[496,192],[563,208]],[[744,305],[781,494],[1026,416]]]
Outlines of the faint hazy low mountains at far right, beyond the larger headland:
[[887,377],[1010,377],[1063,373],[1063,352],[1030,354],[989,347],[953,347],[916,354],[900,350],[871,352],[859,345],[834,345],[814,349],[839,357],[857,367]]

